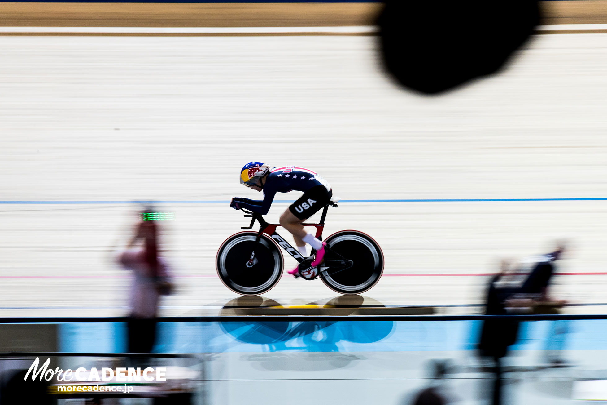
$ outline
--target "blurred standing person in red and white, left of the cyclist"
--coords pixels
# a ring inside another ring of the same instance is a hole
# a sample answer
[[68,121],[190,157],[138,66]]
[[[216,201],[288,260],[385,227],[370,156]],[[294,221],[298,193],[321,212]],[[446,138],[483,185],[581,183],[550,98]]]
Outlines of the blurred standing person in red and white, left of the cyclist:
[[158,254],[157,218],[152,207],[144,207],[126,251],[118,258],[125,269],[134,273],[127,321],[129,353],[151,353],[160,296],[169,295],[172,289],[168,266]]

